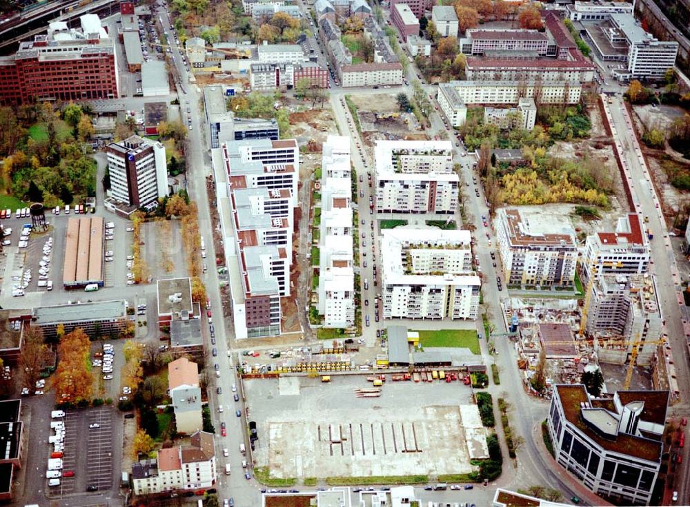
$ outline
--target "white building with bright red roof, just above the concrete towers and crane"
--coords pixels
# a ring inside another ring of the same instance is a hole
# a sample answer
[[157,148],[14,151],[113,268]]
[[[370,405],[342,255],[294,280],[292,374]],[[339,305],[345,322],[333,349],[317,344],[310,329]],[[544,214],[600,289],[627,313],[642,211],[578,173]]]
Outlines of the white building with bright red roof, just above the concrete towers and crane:
[[641,274],[649,271],[649,241],[638,214],[618,218],[615,231],[587,236],[582,256],[582,281],[596,271],[607,274]]

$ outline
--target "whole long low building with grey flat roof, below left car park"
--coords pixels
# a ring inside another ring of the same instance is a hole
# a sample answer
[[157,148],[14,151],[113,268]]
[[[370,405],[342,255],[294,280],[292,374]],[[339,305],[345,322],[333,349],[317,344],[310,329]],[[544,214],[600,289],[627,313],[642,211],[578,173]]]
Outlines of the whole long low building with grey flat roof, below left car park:
[[59,325],[65,333],[79,327],[91,338],[119,336],[127,327],[127,302],[95,301],[37,307],[32,311],[31,322],[32,326],[41,329],[46,340],[55,338]]

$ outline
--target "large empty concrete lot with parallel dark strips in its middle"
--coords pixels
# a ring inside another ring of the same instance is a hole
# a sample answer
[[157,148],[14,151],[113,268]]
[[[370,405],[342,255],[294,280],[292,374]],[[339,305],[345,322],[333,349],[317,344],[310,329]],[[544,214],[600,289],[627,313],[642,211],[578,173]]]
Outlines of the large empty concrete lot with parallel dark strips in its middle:
[[366,375],[245,386],[248,420],[259,433],[255,466],[269,466],[276,477],[469,473],[470,460],[487,453],[471,389],[459,382],[388,377],[380,397],[357,397],[355,389],[371,387]]

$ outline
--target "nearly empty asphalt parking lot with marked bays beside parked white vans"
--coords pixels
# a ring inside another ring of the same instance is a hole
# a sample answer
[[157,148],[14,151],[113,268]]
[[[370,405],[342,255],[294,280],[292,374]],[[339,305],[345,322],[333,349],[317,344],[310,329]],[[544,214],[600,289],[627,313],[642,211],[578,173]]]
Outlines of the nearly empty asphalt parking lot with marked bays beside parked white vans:
[[[65,450],[63,474],[72,470],[73,477],[62,477],[59,488],[47,488],[49,496],[85,492],[88,486],[98,490],[112,488],[113,411],[110,406],[70,411],[65,415]],[[98,424],[98,428],[90,425]]]

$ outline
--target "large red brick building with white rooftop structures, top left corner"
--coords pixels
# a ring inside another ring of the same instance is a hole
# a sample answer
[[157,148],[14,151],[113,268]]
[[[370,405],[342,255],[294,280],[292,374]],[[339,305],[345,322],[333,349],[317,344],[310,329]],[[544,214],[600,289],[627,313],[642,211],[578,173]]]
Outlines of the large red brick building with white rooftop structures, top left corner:
[[47,35],[21,43],[15,54],[0,57],[0,105],[117,98],[112,40],[102,28],[86,33],[86,39],[75,35],[66,26],[51,27]]

